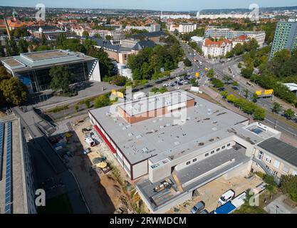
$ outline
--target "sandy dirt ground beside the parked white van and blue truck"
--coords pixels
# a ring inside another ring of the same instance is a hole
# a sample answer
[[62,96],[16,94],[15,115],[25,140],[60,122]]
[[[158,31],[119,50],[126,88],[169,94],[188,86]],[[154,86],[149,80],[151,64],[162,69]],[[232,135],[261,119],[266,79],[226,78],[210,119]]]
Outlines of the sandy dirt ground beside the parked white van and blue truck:
[[207,185],[200,187],[198,189],[199,196],[194,197],[192,201],[184,202],[184,204],[175,207],[179,209],[178,212],[174,212],[174,209],[172,208],[167,213],[189,214],[192,207],[194,207],[194,205],[199,201],[203,201],[205,203],[205,209],[207,209],[208,212],[212,212],[214,209],[219,207],[219,197],[227,190],[234,190],[235,195],[239,195],[245,190],[256,187],[261,182],[263,182],[261,178],[257,177],[256,175],[251,179],[246,179],[244,176],[239,176],[225,180],[224,177],[219,177],[217,180],[213,180]]

